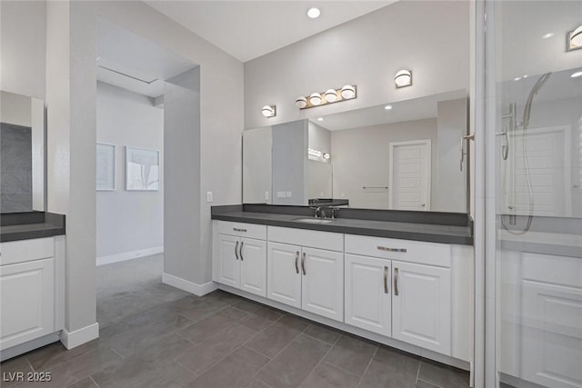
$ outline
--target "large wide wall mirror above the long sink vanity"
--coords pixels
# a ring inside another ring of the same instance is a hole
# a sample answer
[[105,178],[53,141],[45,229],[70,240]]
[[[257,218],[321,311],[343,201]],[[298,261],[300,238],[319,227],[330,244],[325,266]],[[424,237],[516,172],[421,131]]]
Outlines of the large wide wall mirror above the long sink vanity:
[[467,91],[243,134],[245,204],[467,213]]

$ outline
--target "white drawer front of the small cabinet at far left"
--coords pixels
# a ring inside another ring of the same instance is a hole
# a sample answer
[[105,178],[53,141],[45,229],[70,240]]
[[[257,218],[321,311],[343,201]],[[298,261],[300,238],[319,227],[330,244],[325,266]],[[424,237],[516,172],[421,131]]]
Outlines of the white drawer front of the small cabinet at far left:
[[55,255],[53,237],[11,241],[0,244],[0,265],[30,262]]

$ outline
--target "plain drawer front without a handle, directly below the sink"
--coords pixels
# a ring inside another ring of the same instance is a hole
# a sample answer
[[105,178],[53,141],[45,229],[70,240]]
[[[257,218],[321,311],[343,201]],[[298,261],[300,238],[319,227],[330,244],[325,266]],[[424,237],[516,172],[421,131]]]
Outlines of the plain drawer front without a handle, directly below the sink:
[[344,250],[344,234],[311,231],[306,229],[282,228],[269,226],[269,241],[283,244],[301,245],[329,251]]

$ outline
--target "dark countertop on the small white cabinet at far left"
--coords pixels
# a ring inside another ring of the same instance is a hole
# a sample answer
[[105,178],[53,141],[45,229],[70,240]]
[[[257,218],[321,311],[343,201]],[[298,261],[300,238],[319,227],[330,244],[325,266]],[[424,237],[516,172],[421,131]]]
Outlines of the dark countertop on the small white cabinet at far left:
[[65,215],[43,212],[2,214],[0,242],[65,234]]

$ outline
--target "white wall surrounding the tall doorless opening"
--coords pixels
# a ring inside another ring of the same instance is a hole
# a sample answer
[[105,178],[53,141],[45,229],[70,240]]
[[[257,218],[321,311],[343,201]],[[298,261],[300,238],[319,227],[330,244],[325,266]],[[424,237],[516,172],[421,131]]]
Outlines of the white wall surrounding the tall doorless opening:
[[176,274],[195,284],[212,278],[212,204],[201,193],[214,192],[213,204],[241,202],[243,65],[140,2],[47,2],[47,14],[47,210],[67,216],[65,329],[72,332],[95,327],[97,17],[200,65],[201,174],[197,193],[182,198],[183,206],[196,201],[200,207],[199,234],[188,235],[199,249],[179,258],[186,269]]

